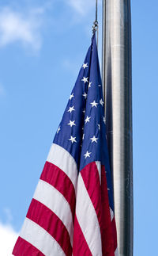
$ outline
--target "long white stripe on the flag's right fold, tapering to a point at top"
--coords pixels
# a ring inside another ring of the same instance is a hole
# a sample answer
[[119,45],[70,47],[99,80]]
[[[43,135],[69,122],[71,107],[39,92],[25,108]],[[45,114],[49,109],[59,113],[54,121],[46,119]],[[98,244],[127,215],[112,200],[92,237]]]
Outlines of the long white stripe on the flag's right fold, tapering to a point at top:
[[81,231],[88,243],[92,256],[102,255],[100,225],[95,208],[85,188],[81,174],[78,176],[76,215]]

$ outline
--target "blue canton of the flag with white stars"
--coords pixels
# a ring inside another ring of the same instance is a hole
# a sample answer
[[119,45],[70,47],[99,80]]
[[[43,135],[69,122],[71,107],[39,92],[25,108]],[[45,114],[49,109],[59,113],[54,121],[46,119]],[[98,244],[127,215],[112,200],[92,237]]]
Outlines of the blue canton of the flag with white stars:
[[103,89],[96,35],[88,48],[53,143],[66,149],[81,171],[88,163],[105,166],[109,203],[114,210],[111,170],[107,151]]

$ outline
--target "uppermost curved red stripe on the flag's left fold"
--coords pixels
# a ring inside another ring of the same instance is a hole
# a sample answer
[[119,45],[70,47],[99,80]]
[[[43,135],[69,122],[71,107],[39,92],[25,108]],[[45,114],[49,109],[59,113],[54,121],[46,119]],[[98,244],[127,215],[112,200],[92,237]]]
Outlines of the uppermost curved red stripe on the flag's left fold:
[[[62,160],[61,160],[62,161]],[[75,190],[70,178],[51,162],[46,162],[40,179],[53,185],[66,198],[70,204],[74,219],[74,210],[76,204]]]

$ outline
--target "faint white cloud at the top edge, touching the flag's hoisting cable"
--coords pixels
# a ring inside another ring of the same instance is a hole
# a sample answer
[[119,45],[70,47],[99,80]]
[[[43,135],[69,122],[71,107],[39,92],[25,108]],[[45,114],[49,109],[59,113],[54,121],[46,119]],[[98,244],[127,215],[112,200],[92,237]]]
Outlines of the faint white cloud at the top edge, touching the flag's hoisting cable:
[[[69,4],[73,10],[82,15],[85,15],[89,10],[96,6],[96,1],[92,0],[66,0],[66,3]],[[100,5],[100,3],[101,1],[99,0],[98,4]]]

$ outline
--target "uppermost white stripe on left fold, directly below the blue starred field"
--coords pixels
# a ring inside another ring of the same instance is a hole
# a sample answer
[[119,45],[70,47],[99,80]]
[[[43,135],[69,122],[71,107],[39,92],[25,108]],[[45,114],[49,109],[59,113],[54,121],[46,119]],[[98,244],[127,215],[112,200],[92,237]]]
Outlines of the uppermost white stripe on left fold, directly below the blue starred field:
[[53,143],[51,145],[51,150],[47,156],[47,162],[55,164],[55,166],[58,166],[58,168],[64,171],[73,182],[74,189],[76,191],[77,164],[73,159],[72,155],[70,155],[70,153],[66,151],[63,147],[60,147],[57,144]]

